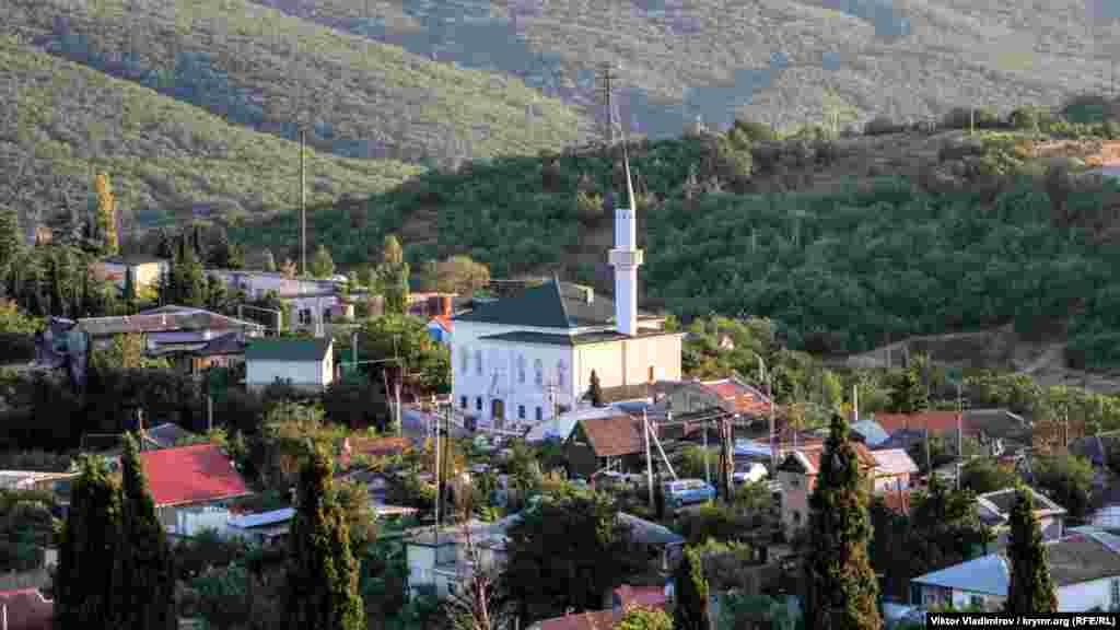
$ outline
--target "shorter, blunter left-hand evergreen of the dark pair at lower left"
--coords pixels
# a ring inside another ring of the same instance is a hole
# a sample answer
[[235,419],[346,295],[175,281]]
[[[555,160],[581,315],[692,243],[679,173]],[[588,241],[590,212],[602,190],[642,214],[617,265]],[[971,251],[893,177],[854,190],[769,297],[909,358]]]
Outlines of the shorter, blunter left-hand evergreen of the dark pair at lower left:
[[84,456],[80,467],[59,536],[54,584],[58,630],[85,630],[91,621],[109,627],[120,594],[110,580],[120,544],[120,492],[100,458]]

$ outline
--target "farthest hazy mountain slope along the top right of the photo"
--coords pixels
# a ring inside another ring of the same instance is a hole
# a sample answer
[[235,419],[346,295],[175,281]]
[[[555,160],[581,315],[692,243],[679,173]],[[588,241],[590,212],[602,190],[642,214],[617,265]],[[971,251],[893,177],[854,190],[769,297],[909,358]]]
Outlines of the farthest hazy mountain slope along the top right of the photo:
[[1055,105],[1105,89],[1120,52],[1108,30],[1117,16],[1086,0],[260,1],[520,76],[582,108],[596,64],[612,61],[624,119],[652,137],[697,115],[724,126],[735,112],[780,127],[836,112],[859,126],[965,104]]

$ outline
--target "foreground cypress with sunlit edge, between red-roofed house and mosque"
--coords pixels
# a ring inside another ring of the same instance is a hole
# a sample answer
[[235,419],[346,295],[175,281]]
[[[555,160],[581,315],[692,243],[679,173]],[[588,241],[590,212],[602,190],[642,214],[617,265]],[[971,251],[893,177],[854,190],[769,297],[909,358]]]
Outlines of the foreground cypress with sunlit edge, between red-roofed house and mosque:
[[316,447],[300,469],[287,583],[293,629],[365,627],[365,609],[357,593],[358,565],[351,550],[345,511],[332,485],[330,467],[330,457]]

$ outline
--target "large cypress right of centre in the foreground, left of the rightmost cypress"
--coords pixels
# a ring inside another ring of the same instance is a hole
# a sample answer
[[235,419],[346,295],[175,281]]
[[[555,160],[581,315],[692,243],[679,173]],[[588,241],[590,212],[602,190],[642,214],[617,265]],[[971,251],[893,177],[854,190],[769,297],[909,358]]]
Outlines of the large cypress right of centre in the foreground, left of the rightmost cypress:
[[867,554],[867,485],[840,415],[832,416],[818,469],[809,499],[805,628],[878,630],[879,587]]

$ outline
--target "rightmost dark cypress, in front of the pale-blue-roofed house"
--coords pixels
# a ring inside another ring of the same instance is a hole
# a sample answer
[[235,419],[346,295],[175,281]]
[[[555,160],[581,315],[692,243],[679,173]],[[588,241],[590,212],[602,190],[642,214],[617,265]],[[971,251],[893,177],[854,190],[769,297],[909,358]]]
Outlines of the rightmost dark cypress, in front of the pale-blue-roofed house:
[[1011,508],[1010,526],[1007,553],[1011,576],[1004,611],[1009,614],[1057,612],[1057,593],[1035,517],[1035,502],[1030,492],[1021,485]]

